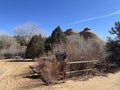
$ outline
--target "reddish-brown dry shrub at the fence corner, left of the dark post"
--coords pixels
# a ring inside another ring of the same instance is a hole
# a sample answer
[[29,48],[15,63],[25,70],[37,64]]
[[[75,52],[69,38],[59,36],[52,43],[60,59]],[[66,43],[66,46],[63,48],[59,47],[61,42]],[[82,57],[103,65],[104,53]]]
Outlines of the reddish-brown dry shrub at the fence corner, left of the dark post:
[[49,52],[36,59],[38,71],[50,82],[57,80],[58,63],[55,55]]

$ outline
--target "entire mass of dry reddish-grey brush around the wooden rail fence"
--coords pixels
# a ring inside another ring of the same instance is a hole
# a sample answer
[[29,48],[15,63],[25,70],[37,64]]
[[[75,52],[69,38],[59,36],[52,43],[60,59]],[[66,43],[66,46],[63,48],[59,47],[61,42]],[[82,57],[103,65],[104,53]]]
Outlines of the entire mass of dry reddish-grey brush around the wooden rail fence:
[[[66,52],[67,58],[63,60],[61,57],[56,57],[56,53],[63,54]],[[67,44],[56,44],[52,52],[48,52],[43,56],[36,59],[38,65],[36,66],[37,74],[43,80],[46,85],[53,84],[58,80],[64,80],[66,77],[79,77],[85,76],[86,71],[84,69],[94,68],[94,71],[87,71],[87,75],[98,75],[98,73],[103,73],[102,69],[106,69],[106,53],[104,45],[99,42],[95,42],[92,39],[85,40],[80,36],[69,36]],[[67,65],[67,62],[74,61],[92,61],[98,60],[99,64],[104,64],[104,68],[96,67],[93,63],[83,63],[83,64],[72,64]],[[66,72],[83,70],[83,72],[73,73],[66,76]],[[62,75],[62,76],[61,76]],[[65,75],[65,76],[64,76]]]

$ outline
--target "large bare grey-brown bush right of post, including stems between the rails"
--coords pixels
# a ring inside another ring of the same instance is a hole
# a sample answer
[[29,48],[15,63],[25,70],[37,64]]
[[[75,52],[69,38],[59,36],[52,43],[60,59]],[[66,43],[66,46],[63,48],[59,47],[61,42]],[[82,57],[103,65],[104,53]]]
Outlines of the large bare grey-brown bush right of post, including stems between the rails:
[[[80,36],[69,36],[66,46],[68,62],[98,60],[105,63],[106,52],[104,45],[93,40],[84,39]],[[67,67],[68,71],[90,69],[95,67],[93,63],[71,64]]]

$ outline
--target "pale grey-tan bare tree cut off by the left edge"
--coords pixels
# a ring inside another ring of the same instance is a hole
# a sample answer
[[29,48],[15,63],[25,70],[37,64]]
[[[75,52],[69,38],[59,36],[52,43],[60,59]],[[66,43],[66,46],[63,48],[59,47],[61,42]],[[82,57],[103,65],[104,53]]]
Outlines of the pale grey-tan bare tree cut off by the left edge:
[[0,34],[0,45],[2,45],[0,50],[1,55],[12,57],[18,53],[21,53],[20,44],[17,43],[14,37],[7,34]]

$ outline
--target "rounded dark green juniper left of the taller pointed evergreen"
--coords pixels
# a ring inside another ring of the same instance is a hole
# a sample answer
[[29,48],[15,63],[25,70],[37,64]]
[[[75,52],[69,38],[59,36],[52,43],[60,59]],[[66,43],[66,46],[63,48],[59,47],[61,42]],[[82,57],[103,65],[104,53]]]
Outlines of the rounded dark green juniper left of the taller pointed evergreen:
[[26,52],[26,58],[35,58],[44,53],[44,38],[41,35],[35,35],[30,40]]

